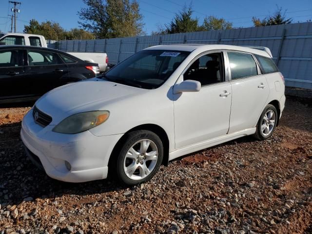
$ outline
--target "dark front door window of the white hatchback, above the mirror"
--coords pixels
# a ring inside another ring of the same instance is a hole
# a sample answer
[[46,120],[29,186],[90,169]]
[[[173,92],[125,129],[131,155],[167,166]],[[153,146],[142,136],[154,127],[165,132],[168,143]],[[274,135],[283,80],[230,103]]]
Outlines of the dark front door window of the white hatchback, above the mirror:
[[212,53],[199,57],[184,73],[184,80],[197,80],[201,86],[222,82],[224,80],[222,58],[222,53]]

